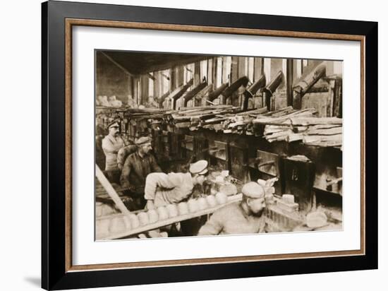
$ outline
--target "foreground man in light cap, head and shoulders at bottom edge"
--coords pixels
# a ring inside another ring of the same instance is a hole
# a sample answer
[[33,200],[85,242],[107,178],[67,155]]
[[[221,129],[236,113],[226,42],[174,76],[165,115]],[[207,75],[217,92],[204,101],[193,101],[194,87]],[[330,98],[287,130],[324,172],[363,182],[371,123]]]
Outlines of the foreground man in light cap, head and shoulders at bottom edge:
[[248,182],[241,190],[243,200],[215,211],[200,228],[198,235],[251,234],[266,231],[265,189],[256,182]]

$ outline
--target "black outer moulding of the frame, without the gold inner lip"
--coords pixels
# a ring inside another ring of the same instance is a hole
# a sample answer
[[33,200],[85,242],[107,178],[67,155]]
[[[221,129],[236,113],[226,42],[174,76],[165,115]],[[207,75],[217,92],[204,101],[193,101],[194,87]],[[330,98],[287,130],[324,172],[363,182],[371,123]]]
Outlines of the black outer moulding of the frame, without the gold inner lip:
[[[365,255],[66,272],[65,18],[365,36]],[[42,287],[46,290],[63,290],[377,268],[377,61],[375,22],[62,1],[44,2]]]

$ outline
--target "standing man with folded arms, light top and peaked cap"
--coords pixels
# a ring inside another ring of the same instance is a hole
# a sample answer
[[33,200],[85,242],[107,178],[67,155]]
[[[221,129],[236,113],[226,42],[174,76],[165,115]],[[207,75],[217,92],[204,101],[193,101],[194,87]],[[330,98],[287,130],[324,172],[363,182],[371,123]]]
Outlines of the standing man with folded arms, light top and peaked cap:
[[119,121],[111,121],[107,129],[108,135],[102,139],[102,150],[105,154],[105,171],[111,182],[119,182],[120,171],[117,166],[117,153],[124,146],[123,138],[120,136]]

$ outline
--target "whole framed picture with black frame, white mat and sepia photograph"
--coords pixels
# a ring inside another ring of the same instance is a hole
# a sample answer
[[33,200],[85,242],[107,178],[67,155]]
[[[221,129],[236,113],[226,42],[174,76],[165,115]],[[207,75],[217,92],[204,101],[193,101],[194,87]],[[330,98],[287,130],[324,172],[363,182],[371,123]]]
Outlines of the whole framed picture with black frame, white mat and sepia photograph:
[[198,8],[42,5],[47,290],[378,267],[377,23]]

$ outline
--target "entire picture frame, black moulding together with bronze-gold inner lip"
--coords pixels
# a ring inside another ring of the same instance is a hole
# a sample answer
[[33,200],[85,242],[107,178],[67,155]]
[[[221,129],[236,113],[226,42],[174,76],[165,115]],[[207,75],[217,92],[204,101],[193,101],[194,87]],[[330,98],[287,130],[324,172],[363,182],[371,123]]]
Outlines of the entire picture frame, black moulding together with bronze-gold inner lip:
[[[360,42],[360,249],[72,263],[72,28],[76,25]],[[366,129],[369,129],[366,131]],[[49,1],[42,4],[42,287],[63,290],[377,268],[377,23]]]

